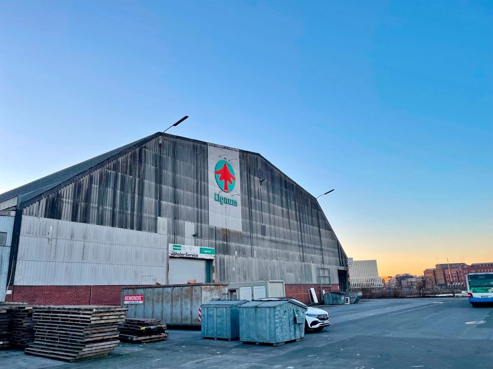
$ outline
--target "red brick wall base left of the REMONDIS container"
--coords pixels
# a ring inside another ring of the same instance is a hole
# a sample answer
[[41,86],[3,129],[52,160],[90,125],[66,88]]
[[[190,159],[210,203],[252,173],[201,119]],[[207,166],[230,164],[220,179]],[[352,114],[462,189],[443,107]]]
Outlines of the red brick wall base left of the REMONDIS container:
[[33,305],[120,305],[124,285],[23,286],[13,287],[6,301]]

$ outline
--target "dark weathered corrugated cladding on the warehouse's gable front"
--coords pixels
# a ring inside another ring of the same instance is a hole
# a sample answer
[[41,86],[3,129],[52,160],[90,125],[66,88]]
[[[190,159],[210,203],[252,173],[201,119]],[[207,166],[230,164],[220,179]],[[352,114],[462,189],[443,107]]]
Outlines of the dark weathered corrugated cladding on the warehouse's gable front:
[[[168,242],[213,247],[218,282],[267,278],[316,283],[319,265],[331,267],[336,276],[346,255],[313,196],[258,154],[239,151],[239,161],[241,232],[209,225],[208,201],[214,194],[207,189],[207,144],[171,135],[157,137],[34,202],[23,214],[159,233],[163,247]],[[260,186],[261,178],[267,180]],[[20,251],[29,247],[22,236]],[[32,273],[34,278],[37,272]],[[116,284],[120,278],[104,280]],[[32,284],[16,275],[17,281]]]

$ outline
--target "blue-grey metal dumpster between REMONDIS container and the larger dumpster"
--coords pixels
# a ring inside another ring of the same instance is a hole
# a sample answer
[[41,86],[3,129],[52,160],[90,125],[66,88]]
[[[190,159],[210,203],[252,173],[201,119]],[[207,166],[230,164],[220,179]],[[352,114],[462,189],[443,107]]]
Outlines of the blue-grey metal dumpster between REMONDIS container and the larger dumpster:
[[247,300],[211,301],[201,306],[202,338],[239,338],[238,308]]

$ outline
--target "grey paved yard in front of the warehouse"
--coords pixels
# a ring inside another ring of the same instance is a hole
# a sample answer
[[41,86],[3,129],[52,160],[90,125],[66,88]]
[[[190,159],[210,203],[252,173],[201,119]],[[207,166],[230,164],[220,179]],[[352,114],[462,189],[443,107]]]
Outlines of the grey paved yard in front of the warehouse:
[[2,367],[38,368],[493,368],[493,308],[467,298],[362,300],[323,306],[330,327],[278,347],[200,339],[172,330],[167,341],[122,343],[107,358],[66,363],[0,352]]

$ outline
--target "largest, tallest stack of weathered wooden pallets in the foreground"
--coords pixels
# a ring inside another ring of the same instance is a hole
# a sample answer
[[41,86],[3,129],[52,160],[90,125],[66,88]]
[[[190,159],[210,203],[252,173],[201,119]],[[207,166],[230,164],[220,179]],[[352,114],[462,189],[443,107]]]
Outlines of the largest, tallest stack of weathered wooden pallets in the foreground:
[[26,354],[79,361],[108,356],[120,342],[121,306],[35,306],[34,343]]

